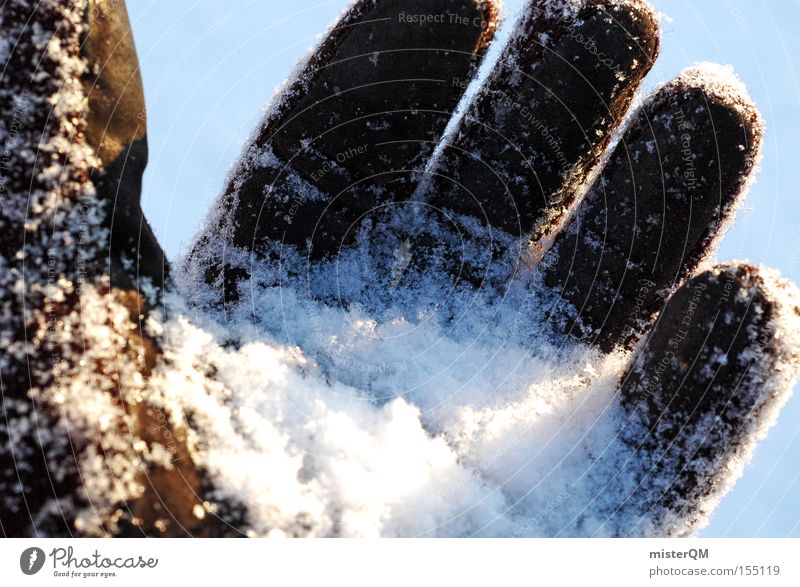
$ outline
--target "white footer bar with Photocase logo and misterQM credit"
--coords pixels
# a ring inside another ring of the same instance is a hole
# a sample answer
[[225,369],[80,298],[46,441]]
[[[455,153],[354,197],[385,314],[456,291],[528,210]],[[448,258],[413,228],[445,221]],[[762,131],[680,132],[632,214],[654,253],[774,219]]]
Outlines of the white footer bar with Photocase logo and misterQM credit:
[[0,585],[797,586],[798,559],[785,539],[0,539]]

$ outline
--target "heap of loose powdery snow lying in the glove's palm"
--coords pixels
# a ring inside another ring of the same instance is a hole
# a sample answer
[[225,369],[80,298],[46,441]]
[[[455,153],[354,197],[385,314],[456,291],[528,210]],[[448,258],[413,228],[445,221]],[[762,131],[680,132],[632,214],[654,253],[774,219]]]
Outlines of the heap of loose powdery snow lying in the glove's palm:
[[[542,7],[547,18],[569,21],[585,5]],[[733,87],[727,74],[715,76],[701,67],[680,80],[720,95]],[[290,87],[302,91],[302,80]],[[275,104],[268,120],[282,108]],[[260,165],[280,163],[269,149],[250,151],[232,181]],[[307,197],[301,192],[265,197],[288,204]],[[213,214],[223,217],[230,205],[222,200]],[[556,300],[537,275],[506,285],[501,273],[479,289],[454,287],[449,250],[482,268],[483,243],[514,257],[494,259],[495,267],[516,266],[521,247],[472,225],[467,242],[448,241],[440,222],[407,209],[368,225],[335,260],[314,263],[279,244],[238,249],[223,231],[182,268],[180,290],[193,305],[176,298],[177,318],[154,326],[166,357],[154,378],[156,401],[191,431],[193,455],[219,497],[246,506],[248,531],[661,536],[702,526],[707,508],[699,517],[670,510],[652,522],[637,508],[644,500],[626,506],[639,489],[637,463],[648,458],[619,437],[629,415],[615,392],[630,355],[552,336]],[[434,244],[420,247],[425,241]],[[206,285],[204,271],[222,256],[249,276],[224,307],[213,302],[223,284]],[[778,395],[790,388],[788,380],[775,385]],[[743,462],[703,463],[706,479],[722,471],[704,499],[718,500]]]

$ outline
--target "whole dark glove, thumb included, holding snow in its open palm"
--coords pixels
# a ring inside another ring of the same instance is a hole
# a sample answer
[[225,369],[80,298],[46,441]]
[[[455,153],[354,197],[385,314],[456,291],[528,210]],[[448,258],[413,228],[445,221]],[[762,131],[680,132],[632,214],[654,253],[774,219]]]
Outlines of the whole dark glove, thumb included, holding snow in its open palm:
[[792,389],[796,288],[711,264],[763,123],[709,64],[629,113],[643,1],[470,92],[494,0],[357,0],[172,277],[122,3],[0,22],[7,535],[686,535]]

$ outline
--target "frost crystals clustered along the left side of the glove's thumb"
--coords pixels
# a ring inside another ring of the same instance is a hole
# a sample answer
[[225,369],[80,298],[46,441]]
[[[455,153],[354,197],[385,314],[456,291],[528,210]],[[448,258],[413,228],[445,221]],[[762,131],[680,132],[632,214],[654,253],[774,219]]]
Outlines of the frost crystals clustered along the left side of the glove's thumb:
[[[129,311],[103,274],[108,234],[84,138],[82,2],[0,11],[0,518],[11,535],[103,534],[139,494],[122,402],[141,399]],[[131,354],[133,357],[131,357]]]

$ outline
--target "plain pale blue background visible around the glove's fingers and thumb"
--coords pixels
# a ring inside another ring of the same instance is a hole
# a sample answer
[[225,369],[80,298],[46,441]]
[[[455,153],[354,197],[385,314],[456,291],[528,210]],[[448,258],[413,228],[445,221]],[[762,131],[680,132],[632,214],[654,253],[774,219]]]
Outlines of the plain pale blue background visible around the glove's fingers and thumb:
[[[145,212],[185,252],[275,87],[347,0],[128,0],[149,116]],[[720,259],[800,282],[800,0],[656,0],[662,55],[648,87],[698,61],[732,64],[769,127],[758,183]],[[521,0],[506,0],[513,17]],[[800,536],[800,394],[704,536]]]

